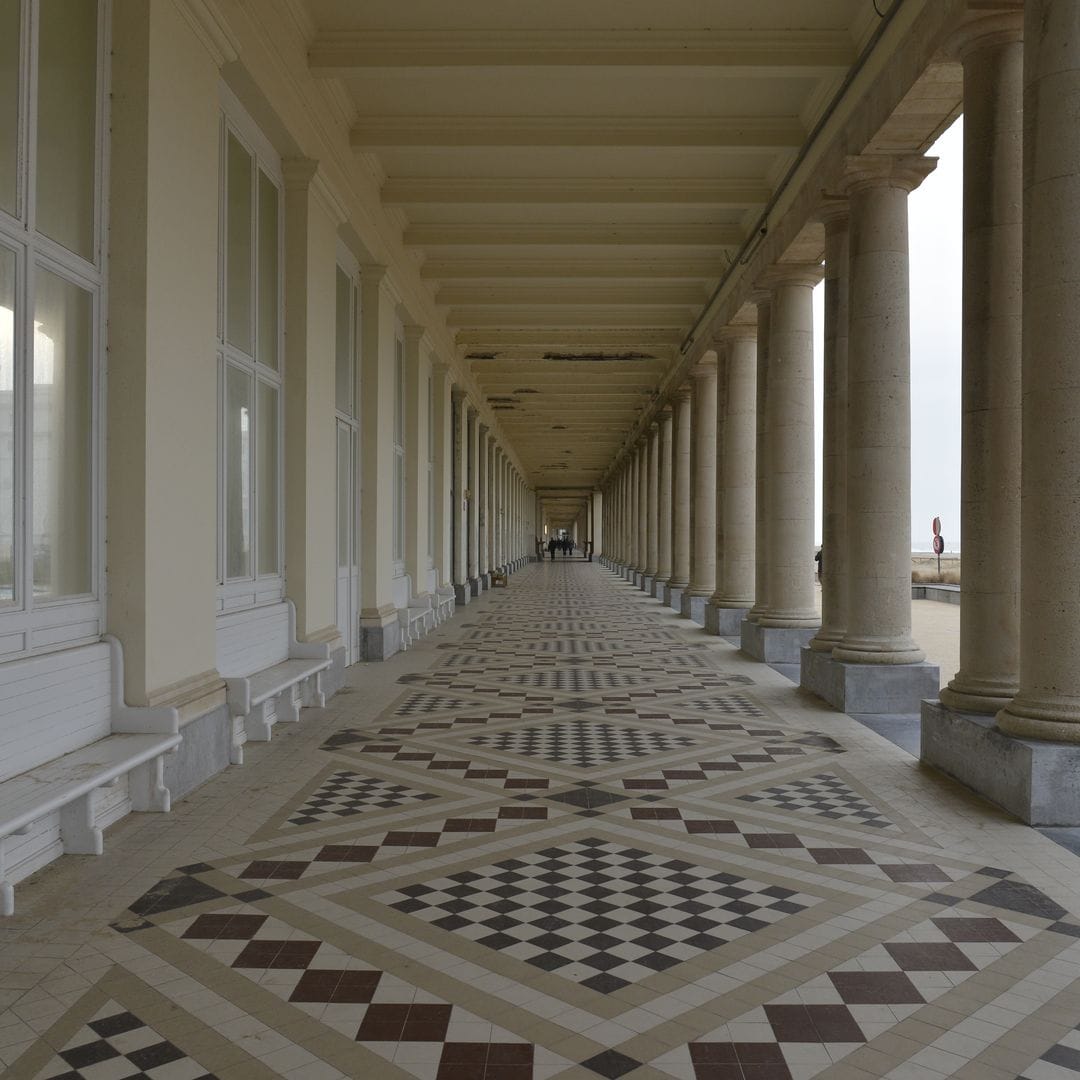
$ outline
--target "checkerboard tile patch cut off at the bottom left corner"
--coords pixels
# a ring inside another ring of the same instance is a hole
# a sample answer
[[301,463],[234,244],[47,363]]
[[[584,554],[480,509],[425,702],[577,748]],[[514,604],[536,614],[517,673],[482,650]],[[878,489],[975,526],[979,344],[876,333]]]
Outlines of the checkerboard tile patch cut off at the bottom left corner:
[[216,1080],[116,1001],[105,1004],[39,1080]]

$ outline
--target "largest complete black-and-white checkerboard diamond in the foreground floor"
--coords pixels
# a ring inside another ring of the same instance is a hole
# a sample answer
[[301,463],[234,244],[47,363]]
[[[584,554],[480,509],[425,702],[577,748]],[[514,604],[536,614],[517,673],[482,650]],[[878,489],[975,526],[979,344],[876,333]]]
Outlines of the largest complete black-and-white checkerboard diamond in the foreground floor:
[[604,994],[819,902],[597,838],[405,886],[379,900]]

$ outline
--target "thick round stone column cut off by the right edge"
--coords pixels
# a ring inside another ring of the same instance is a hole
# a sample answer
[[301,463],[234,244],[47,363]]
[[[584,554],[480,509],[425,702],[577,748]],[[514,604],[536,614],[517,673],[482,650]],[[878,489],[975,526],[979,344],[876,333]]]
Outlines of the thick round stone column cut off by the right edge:
[[1028,0],[1024,38],[1024,604],[1020,691],[998,715],[998,727],[1028,739],[1075,743],[1080,742],[1080,159],[1075,116],[1080,37],[1076,4]]

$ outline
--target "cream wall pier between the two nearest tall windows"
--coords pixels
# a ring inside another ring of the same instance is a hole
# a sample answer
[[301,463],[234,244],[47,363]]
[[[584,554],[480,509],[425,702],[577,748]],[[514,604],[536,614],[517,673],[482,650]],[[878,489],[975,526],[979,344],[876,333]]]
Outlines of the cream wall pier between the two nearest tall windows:
[[218,70],[173,0],[116,0],[108,626],[133,703],[215,693]]

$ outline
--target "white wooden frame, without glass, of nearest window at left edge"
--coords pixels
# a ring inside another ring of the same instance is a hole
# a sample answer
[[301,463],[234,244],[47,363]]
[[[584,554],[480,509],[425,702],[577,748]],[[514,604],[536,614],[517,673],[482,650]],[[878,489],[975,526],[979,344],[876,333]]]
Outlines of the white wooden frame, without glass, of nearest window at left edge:
[[[0,208],[0,247],[14,255],[12,318],[13,592],[0,603],[0,660],[97,640],[106,617],[105,373],[108,310],[109,94],[111,0],[97,0],[95,51],[92,251],[83,257],[37,228],[36,176],[39,104],[40,0],[21,0],[14,213]],[[89,530],[86,592],[53,598],[33,593],[33,340],[39,271],[90,296]],[[0,447],[2,451],[2,447]]]

